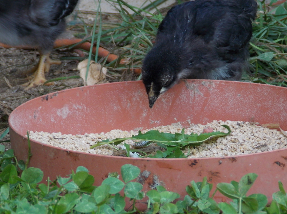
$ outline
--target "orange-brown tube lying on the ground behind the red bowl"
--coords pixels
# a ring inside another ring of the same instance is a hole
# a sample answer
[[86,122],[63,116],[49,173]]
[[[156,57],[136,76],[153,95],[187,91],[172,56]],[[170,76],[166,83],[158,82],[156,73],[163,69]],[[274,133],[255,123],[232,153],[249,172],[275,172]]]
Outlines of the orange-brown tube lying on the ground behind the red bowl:
[[[63,47],[63,46],[76,44],[76,43],[81,42],[81,41],[82,41],[82,39],[57,39],[54,42],[54,48],[60,48],[60,47]],[[92,44],[90,42],[84,42],[84,43],[76,45],[75,47],[73,47],[73,49],[81,48],[81,49],[84,49],[86,51],[90,51],[91,45]],[[0,43],[0,46],[2,46],[4,48],[11,48],[12,47],[12,46],[5,45],[5,44],[2,44],[2,43]],[[16,48],[34,49],[36,47],[18,46]],[[92,49],[92,53],[93,54],[96,53],[96,47],[95,46]],[[99,47],[99,49],[98,49],[98,56],[99,57],[107,57],[107,62],[112,62],[112,61],[114,61],[114,60],[116,60],[118,58],[117,55],[110,53],[108,50],[106,50],[106,49],[104,49],[102,47]],[[121,59],[120,64],[122,64],[122,65],[126,64],[125,60]],[[139,69],[139,68],[133,69],[133,71],[134,71],[135,74],[140,74],[141,73],[141,69]]]

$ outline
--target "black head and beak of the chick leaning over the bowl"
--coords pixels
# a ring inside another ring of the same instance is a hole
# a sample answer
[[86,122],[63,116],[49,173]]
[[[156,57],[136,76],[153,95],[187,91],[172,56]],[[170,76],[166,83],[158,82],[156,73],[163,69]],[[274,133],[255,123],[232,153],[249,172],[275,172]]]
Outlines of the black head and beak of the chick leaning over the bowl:
[[181,57],[178,50],[167,44],[156,44],[146,55],[142,67],[142,81],[152,108],[158,97],[178,80]]

